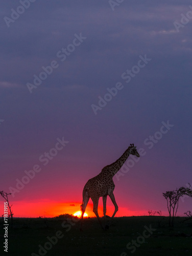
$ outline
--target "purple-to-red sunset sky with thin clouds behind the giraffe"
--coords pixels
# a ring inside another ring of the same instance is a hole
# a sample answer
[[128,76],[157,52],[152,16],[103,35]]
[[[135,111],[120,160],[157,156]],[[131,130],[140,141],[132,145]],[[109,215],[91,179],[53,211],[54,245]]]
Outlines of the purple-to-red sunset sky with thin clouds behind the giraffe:
[[130,143],[142,154],[113,178],[116,217],[168,215],[162,193],[192,184],[191,1],[6,0],[0,13],[0,190],[14,216],[74,214]]

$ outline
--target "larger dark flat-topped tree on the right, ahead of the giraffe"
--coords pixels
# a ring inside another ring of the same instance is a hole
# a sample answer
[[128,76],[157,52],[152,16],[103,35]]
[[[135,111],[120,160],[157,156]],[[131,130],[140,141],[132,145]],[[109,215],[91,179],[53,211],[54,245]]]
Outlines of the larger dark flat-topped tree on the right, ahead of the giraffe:
[[183,197],[184,195],[192,197],[192,189],[190,189],[190,187],[180,187],[179,189],[166,191],[166,193],[163,193],[170,216],[169,224],[172,227],[174,226],[175,216],[179,207],[179,198]]

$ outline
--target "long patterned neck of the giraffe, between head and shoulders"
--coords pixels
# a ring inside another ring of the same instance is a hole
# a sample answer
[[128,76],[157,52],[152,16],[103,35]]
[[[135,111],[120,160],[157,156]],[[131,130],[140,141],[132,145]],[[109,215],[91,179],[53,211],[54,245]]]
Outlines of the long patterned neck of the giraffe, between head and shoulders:
[[117,159],[114,163],[109,164],[103,168],[103,171],[108,172],[112,177],[121,169],[125,161],[130,155],[130,148],[128,148],[124,154]]

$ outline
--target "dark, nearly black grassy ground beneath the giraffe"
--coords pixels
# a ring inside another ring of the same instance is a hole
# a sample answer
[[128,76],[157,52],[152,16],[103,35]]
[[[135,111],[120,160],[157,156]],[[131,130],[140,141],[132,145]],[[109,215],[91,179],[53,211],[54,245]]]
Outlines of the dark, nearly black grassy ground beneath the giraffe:
[[[168,217],[114,218],[108,230],[97,219],[18,218],[8,229],[8,252],[4,252],[4,226],[0,222],[0,255],[11,256],[155,256],[192,255],[192,222],[177,217],[169,227]],[[10,224],[10,220],[9,220]]]

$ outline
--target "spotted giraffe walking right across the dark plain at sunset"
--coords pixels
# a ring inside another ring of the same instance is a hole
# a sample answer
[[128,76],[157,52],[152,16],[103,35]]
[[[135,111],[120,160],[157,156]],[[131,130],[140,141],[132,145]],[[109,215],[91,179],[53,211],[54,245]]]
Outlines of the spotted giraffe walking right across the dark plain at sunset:
[[92,179],[88,180],[83,188],[83,202],[81,205],[81,228],[82,230],[82,224],[83,224],[83,215],[87,206],[87,203],[89,201],[89,198],[91,198],[93,202],[93,212],[98,218],[98,221],[103,229],[108,229],[109,226],[106,225],[103,227],[101,219],[98,215],[98,203],[100,197],[103,197],[103,214],[104,214],[104,220],[106,220],[106,202],[107,202],[107,196],[110,197],[112,203],[114,204],[115,210],[113,212],[113,215],[111,219],[115,216],[118,205],[115,201],[115,197],[113,194],[113,190],[115,188],[115,184],[113,182],[113,176],[118,172],[118,170],[123,166],[129,155],[134,155],[139,157],[139,154],[136,150],[136,146],[134,144],[130,144],[130,146],[127,148],[127,150],[124,152],[124,154],[118,158],[114,163],[109,164],[105,166],[101,173],[97,176],[93,177]]

